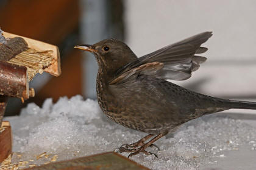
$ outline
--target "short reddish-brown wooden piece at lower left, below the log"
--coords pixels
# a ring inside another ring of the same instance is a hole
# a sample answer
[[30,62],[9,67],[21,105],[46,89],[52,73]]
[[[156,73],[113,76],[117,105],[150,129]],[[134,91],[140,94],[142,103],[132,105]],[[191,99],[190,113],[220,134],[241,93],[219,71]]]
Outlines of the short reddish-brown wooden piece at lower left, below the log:
[[[2,130],[1,130],[2,129]],[[12,130],[10,123],[2,122],[0,128],[0,163],[12,153]]]

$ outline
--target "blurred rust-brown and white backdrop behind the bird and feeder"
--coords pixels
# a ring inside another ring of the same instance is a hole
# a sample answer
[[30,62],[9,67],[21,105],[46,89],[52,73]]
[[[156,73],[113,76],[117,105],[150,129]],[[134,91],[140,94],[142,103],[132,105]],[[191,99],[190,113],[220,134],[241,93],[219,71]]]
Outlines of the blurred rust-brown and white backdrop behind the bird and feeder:
[[96,99],[98,66],[88,52],[73,49],[104,38],[126,42],[138,56],[191,35],[213,31],[208,58],[191,79],[174,82],[210,96],[256,100],[256,1],[1,0],[5,32],[59,46],[62,75],[38,74],[35,97],[10,98],[5,116],[28,102],[81,94]]

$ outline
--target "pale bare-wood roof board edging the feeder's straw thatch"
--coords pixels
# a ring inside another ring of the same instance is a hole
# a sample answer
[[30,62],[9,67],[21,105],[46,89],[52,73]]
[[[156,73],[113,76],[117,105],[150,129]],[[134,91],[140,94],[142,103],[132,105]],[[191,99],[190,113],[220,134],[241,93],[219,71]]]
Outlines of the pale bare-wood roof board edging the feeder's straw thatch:
[[29,48],[35,49],[37,51],[46,51],[52,50],[54,60],[52,61],[51,66],[44,69],[45,72],[52,74],[53,76],[60,76],[61,69],[60,69],[60,52],[57,46],[52,44],[44,43],[41,41],[33,40],[31,38],[22,37],[20,35],[10,34],[8,32],[3,32],[5,38],[13,38],[13,37],[21,37],[24,38]]

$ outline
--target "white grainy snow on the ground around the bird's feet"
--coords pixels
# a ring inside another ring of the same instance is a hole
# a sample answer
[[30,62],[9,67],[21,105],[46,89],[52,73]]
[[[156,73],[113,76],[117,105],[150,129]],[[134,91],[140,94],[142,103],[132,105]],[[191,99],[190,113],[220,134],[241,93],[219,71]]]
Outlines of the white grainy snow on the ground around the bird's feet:
[[[60,161],[114,151],[147,135],[119,126],[102,113],[98,102],[82,96],[61,97],[55,104],[46,99],[42,108],[30,103],[20,116],[5,121],[10,121],[13,130],[13,163],[34,160],[36,165],[43,164],[46,158],[35,159],[43,152],[58,155]],[[151,169],[201,169],[218,166],[243,149],[255,160],[256,127],[239,119],[208,115],[185,123],[155,144],[160,151],[148,150],[158,158],[139,154],[131,159]]]

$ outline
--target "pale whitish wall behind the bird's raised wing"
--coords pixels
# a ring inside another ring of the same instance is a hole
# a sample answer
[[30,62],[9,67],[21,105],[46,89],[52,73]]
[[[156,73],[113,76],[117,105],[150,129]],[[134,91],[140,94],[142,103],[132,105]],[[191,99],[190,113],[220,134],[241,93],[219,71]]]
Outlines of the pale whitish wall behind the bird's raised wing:
[[126,43],[135,54],[213,31],[204,44],[207,62],[178,83],[213,96],[256,98],[256,1],[125,2]]

